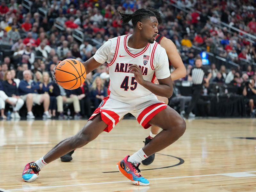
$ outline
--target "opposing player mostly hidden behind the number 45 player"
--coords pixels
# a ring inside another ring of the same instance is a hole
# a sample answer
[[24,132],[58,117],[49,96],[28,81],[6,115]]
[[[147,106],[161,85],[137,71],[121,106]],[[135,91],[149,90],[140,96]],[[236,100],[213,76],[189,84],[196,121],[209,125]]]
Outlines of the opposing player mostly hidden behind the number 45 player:
[[[156,19],[158,20],[158,24],[160,25],[162,23],[162,17],[161,14],[153,8],[147,8],[148,10],[152,11],[156,15]],[[175,68],[175,70],[172,72],[172,80],[175,81],[177,79],[180,79],[184,76],[186,76],[186,68],[180,58],[180,55],[177,51],[177,48],[175,44],[172,42],[172,40],[162,36],[162,35],[157,35],[156,36],[156,42],[163,47],[167,53],[168,59],[169,59],[169,67],[171,65]],[[155,82],[157,83],[157,79],[155,79]],[[168,104],[168,99],[166,97],[161,97],[161,96],[156,96],[159,101],[164,102],[165,104]],[[151,126],[151,131],[149,133],[149,136],[143,141],[145,145],[148,144],[158,133],[159,127],[156,125]],[[73,151],[70,151],[69,153],[65,154],[64,156],[60,157],[60,160],[62,162],[69,162],[72,160],[72,154],[74,153]],[[141,163],[144,165],[149,165],[151,164],[155,159],[155,154],[149,156],[147,159],[143,160]]]

